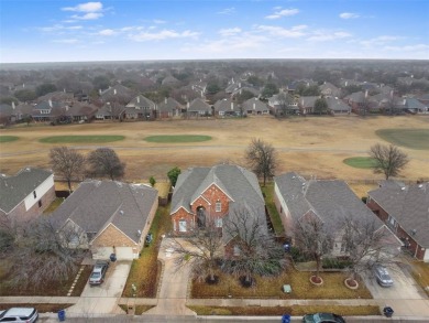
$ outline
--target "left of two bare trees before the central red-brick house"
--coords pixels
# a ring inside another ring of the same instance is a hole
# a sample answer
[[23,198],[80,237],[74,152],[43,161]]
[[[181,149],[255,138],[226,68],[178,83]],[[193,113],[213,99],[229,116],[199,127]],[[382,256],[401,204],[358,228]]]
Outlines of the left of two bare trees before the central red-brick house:
[[223,255],[223,241],[221,228],[213,220],[206,222],[205,229],[197,229],[188,239],[174,238],[169,247],[178,255],[175,259],[178,268],[191,266],[196,278],[216,281],[215,270]]

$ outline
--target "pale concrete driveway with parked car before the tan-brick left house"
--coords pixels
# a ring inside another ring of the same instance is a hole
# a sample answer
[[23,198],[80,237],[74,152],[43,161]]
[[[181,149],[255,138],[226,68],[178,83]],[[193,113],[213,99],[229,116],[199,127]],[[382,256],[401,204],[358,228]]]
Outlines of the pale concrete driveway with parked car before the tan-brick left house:
[[122,295],[131,261],[111,262],[106,273],[105,282],[100,286],[85,287],[79,301],[67,309],[67,313],[111,314],[121,313],[118,301]]

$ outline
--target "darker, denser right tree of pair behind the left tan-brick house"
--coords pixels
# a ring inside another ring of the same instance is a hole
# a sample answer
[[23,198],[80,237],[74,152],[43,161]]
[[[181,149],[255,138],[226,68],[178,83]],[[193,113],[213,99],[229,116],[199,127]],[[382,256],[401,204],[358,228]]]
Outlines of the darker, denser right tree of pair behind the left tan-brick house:
[[112,181],[122,179],[125,173],[125,163],[121,162],[114,150],[110,148],[98,148],[88,155],[89,171],[94,176],[108,176]]

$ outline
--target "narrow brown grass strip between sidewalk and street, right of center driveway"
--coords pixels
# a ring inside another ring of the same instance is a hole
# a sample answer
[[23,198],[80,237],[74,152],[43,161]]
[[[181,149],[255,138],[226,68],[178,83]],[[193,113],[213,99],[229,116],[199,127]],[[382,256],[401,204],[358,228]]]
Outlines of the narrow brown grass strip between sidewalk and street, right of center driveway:
[[301,316],[308,313],[332,312],[343,316],[380,315],[380,308],[372,305],[341,306],[341,305],[293,305],[293,306],[188,306],[198,315],[250,315],[274,316],[289,314]]

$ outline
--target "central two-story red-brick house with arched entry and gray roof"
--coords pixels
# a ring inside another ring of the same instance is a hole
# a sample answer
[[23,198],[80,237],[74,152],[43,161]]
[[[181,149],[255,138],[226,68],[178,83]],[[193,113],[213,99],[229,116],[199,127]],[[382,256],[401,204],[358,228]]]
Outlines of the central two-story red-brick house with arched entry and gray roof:
[[264,224],[265,202],[256,175],[238,165],[193,168],[182,173],[172,198],[170,216],[176,235],[191,235],[212,223],[222,232],[227,250],[234,238],[223,229],[224,219],[245,207]]

